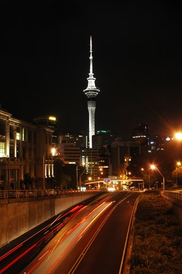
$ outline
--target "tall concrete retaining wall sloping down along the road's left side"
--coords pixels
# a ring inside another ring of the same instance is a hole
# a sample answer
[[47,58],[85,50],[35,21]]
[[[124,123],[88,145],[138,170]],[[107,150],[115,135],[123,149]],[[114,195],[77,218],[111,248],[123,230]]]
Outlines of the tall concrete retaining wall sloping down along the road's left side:
[[0,248],[45,220],[96,194],[4,199],[0,203]]

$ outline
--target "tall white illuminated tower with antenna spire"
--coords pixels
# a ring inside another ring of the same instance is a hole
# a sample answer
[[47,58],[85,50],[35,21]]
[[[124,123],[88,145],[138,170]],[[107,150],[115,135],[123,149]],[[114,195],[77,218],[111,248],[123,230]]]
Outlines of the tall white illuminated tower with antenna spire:
[[92,136],[95,135],[95,111],[96,111],[96,96],[100,91],[96,88],[95,80],[93,77],[93,56],[92,56],[92,40],[90,36],[90,72],[88,80],[88,86],[84,89],[84,93],[86,94],[88,101],[88,111],[89,111],[89,148],[92,148]]

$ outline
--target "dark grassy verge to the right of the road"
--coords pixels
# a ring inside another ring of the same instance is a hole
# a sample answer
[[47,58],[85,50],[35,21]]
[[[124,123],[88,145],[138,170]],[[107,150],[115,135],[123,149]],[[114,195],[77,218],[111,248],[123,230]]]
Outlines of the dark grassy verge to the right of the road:
[[182,229],[158,191],[141,195],[132,230],[130,274],[182,273]]

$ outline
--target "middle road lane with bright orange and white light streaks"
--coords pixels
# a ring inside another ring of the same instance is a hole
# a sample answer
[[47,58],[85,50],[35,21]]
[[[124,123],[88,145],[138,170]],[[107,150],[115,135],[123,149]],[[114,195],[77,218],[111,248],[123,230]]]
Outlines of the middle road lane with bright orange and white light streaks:
[[[127,193],[124,193],[124,195],[127,195]],[[111,210],[113,196],[115,196],[115,193],[106,193],[86,205],[84,210],[69,220],[69,223],[50,240],[39,255],[21,273],[55,273],[57,268],[61,268],[61,270],[58,270],[59,273],[68,273],[82,250],[84,250],[89,238],[92,237],[95,231],[94,225],[97,223],[99,225],[99,220],[103,218],[103,212]],[[86,233],[89,236],[88,238]],[[71,253],[72,250],[74,252]]]

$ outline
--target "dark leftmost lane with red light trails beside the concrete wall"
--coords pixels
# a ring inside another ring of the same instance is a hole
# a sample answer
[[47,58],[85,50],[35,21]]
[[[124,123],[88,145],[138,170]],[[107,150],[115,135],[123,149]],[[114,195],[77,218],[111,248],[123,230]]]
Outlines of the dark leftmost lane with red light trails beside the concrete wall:
[[18,274],[22,268],[35,258],[36,254],[39,254],[40,250],[49,243],[51,238],[64,228],[66,223],[69,223],[71,218],[74,218],[91,201],[94,201],[96,198],[99,200],[100,196],[104,197],[106,195],[107,193],[98,193],[97,196],[93,196],[78,205],[68,208],[54,218],[38,225],[37,228],[25,233],[22,237],[14,240],[13,243],[1,248],[0,274]]

